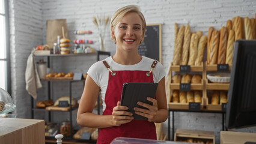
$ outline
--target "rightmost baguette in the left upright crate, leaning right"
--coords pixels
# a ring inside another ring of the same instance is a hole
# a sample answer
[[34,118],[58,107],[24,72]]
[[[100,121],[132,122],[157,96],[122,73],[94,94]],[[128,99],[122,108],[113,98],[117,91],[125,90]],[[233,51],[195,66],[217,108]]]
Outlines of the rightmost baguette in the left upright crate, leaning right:
[[207,37],[206,35],[203,35],[198,43],[198,48],[197,48],[197,58],[195,59],[195,65],[201,65],[201,62],[203,61],[204,57],[204,48],[206,47],[207,43]]

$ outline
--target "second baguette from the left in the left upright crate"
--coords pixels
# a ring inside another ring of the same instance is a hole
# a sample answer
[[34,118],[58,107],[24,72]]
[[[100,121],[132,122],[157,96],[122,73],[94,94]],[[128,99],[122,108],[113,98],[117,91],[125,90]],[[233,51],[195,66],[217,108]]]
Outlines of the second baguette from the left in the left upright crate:
[[184,32],[182,59],[181,59],[180,65],[187,65],[187,59],[189,57],[190,37],[191,37],[190,26],[189,24],[187,24]]

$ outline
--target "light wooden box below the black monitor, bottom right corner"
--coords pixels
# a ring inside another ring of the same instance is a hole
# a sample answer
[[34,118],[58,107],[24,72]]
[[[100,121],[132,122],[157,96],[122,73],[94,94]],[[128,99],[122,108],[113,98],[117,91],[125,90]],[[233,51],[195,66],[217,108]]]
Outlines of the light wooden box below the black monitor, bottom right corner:
[[221,144],[236,144],[245,142],[256,143],[256,133],[221,131]]

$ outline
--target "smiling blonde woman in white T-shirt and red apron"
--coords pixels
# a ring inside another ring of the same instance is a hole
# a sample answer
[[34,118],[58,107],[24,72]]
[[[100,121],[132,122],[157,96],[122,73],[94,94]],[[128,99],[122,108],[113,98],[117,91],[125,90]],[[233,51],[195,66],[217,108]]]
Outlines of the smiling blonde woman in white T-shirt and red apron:
[[[136,5],[127,5],[114,13],[110,28],[111,39],[117,45],[116,53],[88,70],[77,122],[82,127],[100,128],[97,143],[110,143],[115,137],[156,139],[154,122],[164,122],[168,118],[165,71],[160,62],[138,54],[138,46],[145,35],[144,16]],[[150,71],[152,65],[154,69]],[[133,120],[132,113],[126,111],[128,107],[120,106],[125,82],[158,83],[156,99],[147,98],[153,105],[138,102],[148,110],[134,107],[135,113],[147,120]],[[99,92],[103,115],[93,113]]]

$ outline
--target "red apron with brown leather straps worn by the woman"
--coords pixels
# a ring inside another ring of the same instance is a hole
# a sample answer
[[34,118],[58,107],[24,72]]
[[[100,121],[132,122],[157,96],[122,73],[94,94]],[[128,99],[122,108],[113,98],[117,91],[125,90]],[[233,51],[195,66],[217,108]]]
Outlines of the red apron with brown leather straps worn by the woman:
[[[104,62],[103,62],[104,63]],[[156,64],[156,63],[155,63]],[[155,66],[155,65],[154,65]],[[110,70],[110,69],[109,69]],[[121,92],[125,82],[154,82],[153,74],[146,76],[148,71],[109,71],[108,88],[105,94],[106,109],[103,115],[112,115],[113,108],[121,101]],[[150,70],[151,73],[151,70]],[[116,137],[133,137],[141,139],[156,139],[154,122],[133,120],[119,127],[100,128],[97,143],[111,143]]]

